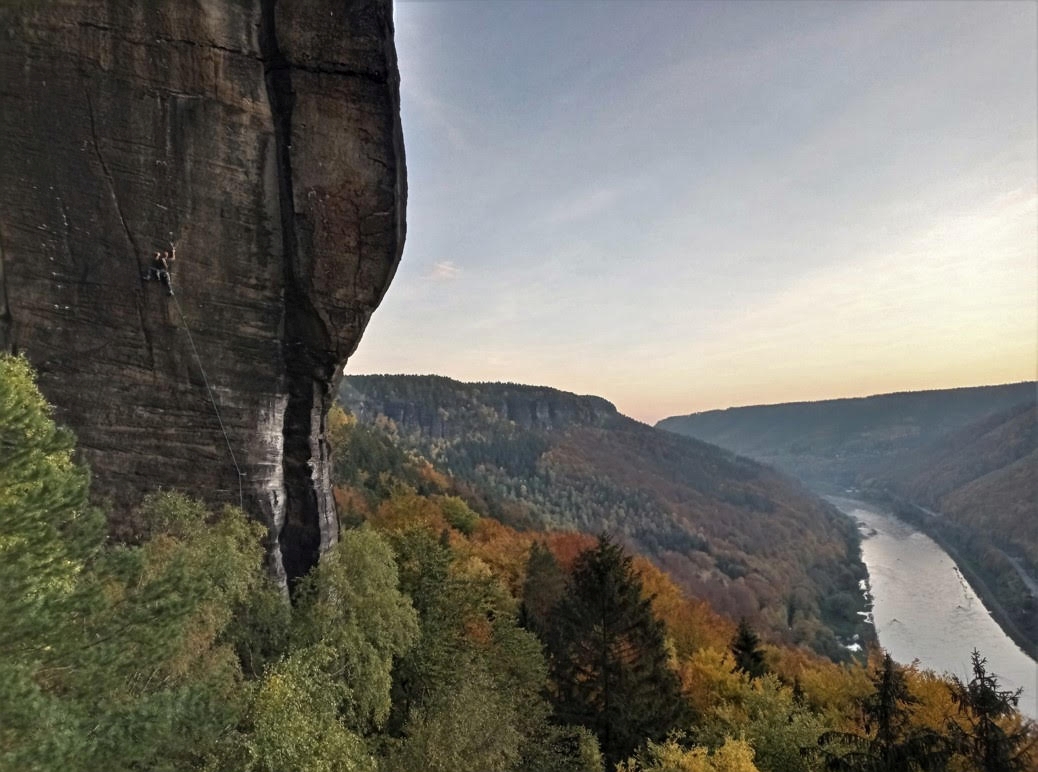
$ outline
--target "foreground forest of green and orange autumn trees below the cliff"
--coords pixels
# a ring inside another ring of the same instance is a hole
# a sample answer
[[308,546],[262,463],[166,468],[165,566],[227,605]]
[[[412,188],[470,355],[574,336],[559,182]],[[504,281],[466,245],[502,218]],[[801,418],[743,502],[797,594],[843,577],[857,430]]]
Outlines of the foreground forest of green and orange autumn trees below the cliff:
[[510,528],[384,432],[326,425],[350,520],[290,603],[233,507],[165,492],[106,536],[74,438],[0,357],[0,770],[1034,769],[979,656],[958,682],[776,645],[608,539]]

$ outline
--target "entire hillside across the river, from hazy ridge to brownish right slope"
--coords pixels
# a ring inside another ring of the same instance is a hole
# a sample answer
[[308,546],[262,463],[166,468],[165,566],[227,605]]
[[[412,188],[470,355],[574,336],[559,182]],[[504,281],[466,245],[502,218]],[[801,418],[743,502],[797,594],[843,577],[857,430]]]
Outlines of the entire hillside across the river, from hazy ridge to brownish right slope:
[[[1038,647],[1036,384],[733,408],[659,426],[774,464],[819,490],[855,487],[936,537]],[[992,605],[993,605],[992,604]]]

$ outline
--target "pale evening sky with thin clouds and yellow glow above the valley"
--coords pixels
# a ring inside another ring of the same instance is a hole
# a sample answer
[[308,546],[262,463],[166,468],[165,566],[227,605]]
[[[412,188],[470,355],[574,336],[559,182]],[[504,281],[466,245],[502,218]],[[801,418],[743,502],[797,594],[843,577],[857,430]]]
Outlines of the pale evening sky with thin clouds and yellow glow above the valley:
[[1038,4],[395,18],[407,246],[347,373],[649,422],[1036,377]]

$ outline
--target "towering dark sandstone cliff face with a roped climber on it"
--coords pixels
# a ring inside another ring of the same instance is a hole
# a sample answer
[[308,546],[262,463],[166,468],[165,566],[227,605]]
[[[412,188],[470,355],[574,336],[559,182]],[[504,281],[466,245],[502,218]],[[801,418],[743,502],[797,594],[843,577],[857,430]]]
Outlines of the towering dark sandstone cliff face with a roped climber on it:
[[[389,0],[7,2],[0,108],[0,347],[116,517],[241,486],[302,575],[336,539],[324,415],[404,243]],[[173,298],[142,280],[170,240]]]

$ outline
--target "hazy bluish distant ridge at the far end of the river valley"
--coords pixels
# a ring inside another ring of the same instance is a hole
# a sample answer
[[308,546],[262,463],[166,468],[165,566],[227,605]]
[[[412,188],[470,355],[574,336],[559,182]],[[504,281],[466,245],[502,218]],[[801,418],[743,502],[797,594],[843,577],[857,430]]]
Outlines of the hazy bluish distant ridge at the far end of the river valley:
[[1031,382],[756,405],[673,416],[656,425],[813,485],[845,487],[894,453],[924,448],[993,413],[1034,404],[1035,388]]

